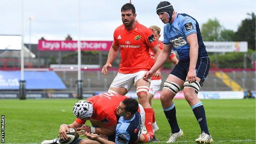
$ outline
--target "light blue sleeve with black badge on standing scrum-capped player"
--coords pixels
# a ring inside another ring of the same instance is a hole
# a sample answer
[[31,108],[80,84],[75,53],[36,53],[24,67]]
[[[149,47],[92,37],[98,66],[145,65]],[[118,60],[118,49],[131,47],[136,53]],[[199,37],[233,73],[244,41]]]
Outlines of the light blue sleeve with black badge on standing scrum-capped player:
[[183,30],[185,37],[190,34],[197,33],[196,21],[190,16],[185,16],[182,21],[181,30]]

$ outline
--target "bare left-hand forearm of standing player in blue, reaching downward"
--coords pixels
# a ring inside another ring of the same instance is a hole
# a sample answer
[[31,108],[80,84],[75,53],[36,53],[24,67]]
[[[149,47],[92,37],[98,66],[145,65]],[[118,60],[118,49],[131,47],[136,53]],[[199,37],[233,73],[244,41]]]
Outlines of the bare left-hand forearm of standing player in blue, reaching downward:
[[158,57],[160,57],[159,59],[156,59],[155,64],[153,65],[153,67],[144,74],[143,79],[148,81],[149,78],[151,78],[151,76],[153,75],[153,73],[155,73],[158,69],[160,69],[160,67],[167,61],[170,53],[172,50],[172,45],[165,45],[163,46],[163,49],[161,51],[161,53],[158,55]]

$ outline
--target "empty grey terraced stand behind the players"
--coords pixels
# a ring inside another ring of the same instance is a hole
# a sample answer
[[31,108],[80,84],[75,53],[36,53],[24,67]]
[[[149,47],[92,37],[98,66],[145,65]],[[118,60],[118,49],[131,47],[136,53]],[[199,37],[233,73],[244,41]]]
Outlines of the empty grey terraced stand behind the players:
[[[60,78],[62,78],[67,89],[75,89],[75,81],[77,80],[77,71],[57,71]],[[234,74],[235,73],[235,74]],[[245,77],[246,73],[246,77]],[[105,91],[110,87],[112,80],[114,79],[117,71],[109,71],[107,75],[103,75],[101,71],[82,71],[82,80],[84,81],[84,88],[88,91]],[[166,80],[169,75],[169,70],[161,72],[162,80]],[[226,75],[234,80],[243,89],[255,89],[255,71],[234,71],[226,72]],[[242,80],[246,80],[246,82]],[[162,89],[162,86],[161,86]],[[131,90],[135,91],[133,87]],[[206,78],[202,91],[232,91],[233,89],[226,85],[221,78],[215,75],[214,71],[210,71]],[[242,90],[242,89],[241,89]]]

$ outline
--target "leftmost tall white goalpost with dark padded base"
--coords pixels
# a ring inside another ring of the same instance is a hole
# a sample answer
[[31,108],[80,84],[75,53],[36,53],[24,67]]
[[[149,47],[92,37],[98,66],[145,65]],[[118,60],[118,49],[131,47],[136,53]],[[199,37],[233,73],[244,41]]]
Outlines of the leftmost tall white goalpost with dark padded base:
[[24,14],[23,0],[21,0],[21,80],[19,87],[19,98],[26,99],[26,81],[24,80]]

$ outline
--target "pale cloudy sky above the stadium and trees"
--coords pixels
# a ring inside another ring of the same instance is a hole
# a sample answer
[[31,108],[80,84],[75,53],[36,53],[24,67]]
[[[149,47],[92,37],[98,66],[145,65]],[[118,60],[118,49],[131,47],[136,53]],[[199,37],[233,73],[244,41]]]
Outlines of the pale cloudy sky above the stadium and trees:
[[[1,0],[0,35],[21,34],[21,1]],[[132,0],[139,23],[150,27],[163,23],[155,12],[163,0]],[[121,7],[129,0],[80,0],[81,40],[113,40],[113,32],[122,24]],[[256,11],[255,0],[173,0],[175,11],[197,19],[199,26],[208,19],[217,18],[226,29],[236,31],[247,13]],[[29,18],[31,43],[46,40],[64,40],[70,34],[78,39],[78,0],[23,0],[24,42],[29,43]],[[161,32],[162,33],[162,32]],[[163,38],[161,37],[160,40]]]

